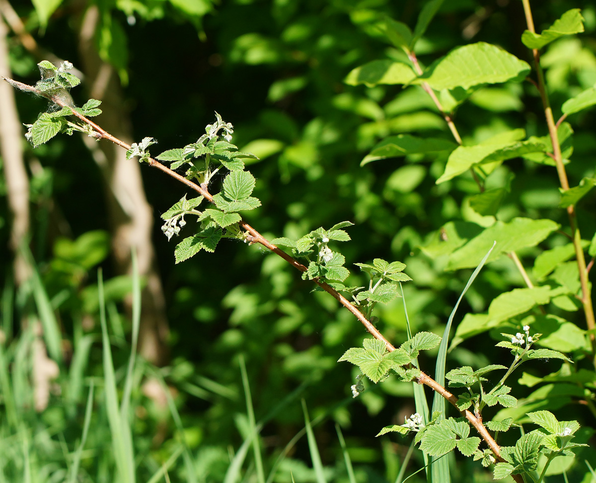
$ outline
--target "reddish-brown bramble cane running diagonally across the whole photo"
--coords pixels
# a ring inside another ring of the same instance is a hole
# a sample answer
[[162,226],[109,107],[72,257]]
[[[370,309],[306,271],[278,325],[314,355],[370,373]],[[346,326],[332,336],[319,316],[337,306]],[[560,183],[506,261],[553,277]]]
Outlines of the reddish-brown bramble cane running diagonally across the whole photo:
[[[13,81],[13,79],[8,79],[5,77],[3,77],[2,79],[4,79],[5,81],[7,81],[11,85],[13,85],[15,88],[21,89],[22,91],[33,92],[37,95],[45,97],[60,107],[66,106],[66,104],[64,104],[64,102],[57,96],[48,94],[47,92],[39,91],[35,87],[24,84],[22,82]],[[89,134],[89,136],[94,137],[97,140],[104,139],[104,140],[111,141],[112,143],[117,144],[126,150],[129,150],[131,148],[131,146],[129,144],[126,144],[124,141],[121,141],[118,138],[114,137],[113,135],[111,135],[110,133],[108,133],[107,131],[102,129],[100,126],[98,126],[97,124],[92,122],[92,120],[89,120],[87,117],[83,116],[82,114],[79,114],[79,113],[73,111],[73,116],[78,117],[80,120],[82,120],[82,122],[86,123],[87,125],[91,126],[94,129],[94,131],[91,132],[91,134]],[[152,166],[153,168],[157,168],[160,171],[163,171],[164,173],[166,173],[167,175],[170,175],[172,178],[177,179],[182,184],[186,185],[187,187],[189,187],[192,190],[199,193],[207,201],[213,203],[213,196],[212,196],[212,194],[209,193],[209,191],[207,191],[207,189],[205,187],[201,187],[200,185],[195,184],[193,181],[190,181],[190,179],[186,179],[186,178],[182,177],[175,171],[172,171],[171,169],[162,165],[162,163],[160,163],[159,161],[157,161],[153,158],[149,158],[147,163],[149,166]],[[265,239],[265,237],[263,237],[257,230],[255,230],[253,227],[251,227],[247,222],[241,220],[239,222],[239,224],[248,233],[247,239],[250,241],[251,244],[252,243],[262,244],[264,247],[271,250],[276,255],[281,256],[281,258],[283,258],[285,261],[287,261],[288,264],[292,265],[294,268],[296,268],[297,270],[299,270],[301,272],[306,272],[308,270],[299,261],[297,261],[292,256],[285,253],[283,250],[279,249],[277,246],[272,244],[269,240]],[[333,287],[331,287],[329,284],[325,283],[322,280],[318,280],[315,278],[313,281],[319,287],[321,287],[323,290],[325,290],[325,292],[327,292],[331,296],[333,296],[333,298],[335,298],[340,304],[342,304],[350,312],[352,312],[352,314],[355,315],[355,317],[364,325],[364,327],[368,330],[368,332],[371,335],[374,336],[375,339],[381,340],[385,344],[387,351],[389,351],[389,352],[395,351],[395,346],[393,346],[392,343],[389,342],[389,340],[384,338],[383,334],[381,334],[378,331],[378,329],[367,319],[367,317],[365,317],[365,315],[362,314],[362,312],[359,311],[358,308],[356,308],[354,305],[352,305],[350,303],[350,301],[347,300],[342,294],[337,292],[337,290],[334,290]],[[476,428],[476,431],[480,434],[480,436],[482,436],[482,438],[485,440],[486,444],[489,446],[489,448],[491,448],[492,452],[495,454],[496,459],[499,460],[500,462],[505,462],[505,460],[501,457],[501,448],[499,447],[499,445],[496,443],[495,439],[492,437],[492,435],[488,432],[488,430],[483,425],[482,419],[474,416],[474,414],[472,414],[468,410],[460,411],[459,408],[457,407],[458,398],[454,394],[449,392],[447,389],[445,389],[442,385],[437,383],[436,380],[434,380],[432,377],[425,374],[424,372],[421,372],[421,374],[420,374],[420,376],[418,376],[417,380],[418,380],[419,384],[424,384],[424,385],[429,386],[434,391],[436,391],[440,395],[442,395],[442,397],[444,397],[446,400],[451,402],[451,404],[461,413],[461,415],[464,416],[470,422],[470,424],[474,426],[474,428]],[[517,483],[523,483],[523,479],[522,479],[521,475],[513,475],[513,479]]]

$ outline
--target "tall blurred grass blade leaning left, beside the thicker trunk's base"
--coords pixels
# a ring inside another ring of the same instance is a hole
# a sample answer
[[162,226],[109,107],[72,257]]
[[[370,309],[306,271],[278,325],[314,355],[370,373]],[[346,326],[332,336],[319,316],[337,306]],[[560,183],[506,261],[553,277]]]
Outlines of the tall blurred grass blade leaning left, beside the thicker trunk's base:
[[101,269],[98,271],[98,295],[100,297],[100,323],[103,342],[105,407],[110,425],[114,459],[116,459],[116,466],[121,481],[134,483],[135,462],[132,456],[131,427],[128,424],[128,420],[122,420],[120,417],[116,374],[114,373],[110,339],[108,338],[107,323],[105,321],[104,281]]

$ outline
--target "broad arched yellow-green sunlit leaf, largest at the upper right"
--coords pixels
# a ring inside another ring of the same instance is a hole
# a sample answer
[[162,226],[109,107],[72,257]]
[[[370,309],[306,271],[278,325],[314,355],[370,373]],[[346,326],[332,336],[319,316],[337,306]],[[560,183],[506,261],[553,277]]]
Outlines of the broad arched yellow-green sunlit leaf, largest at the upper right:
[[427,82],[436,91],[483,83],[521,82],[530,66],[496,45],[478,42],[458,47],[429,66],[412,83]]

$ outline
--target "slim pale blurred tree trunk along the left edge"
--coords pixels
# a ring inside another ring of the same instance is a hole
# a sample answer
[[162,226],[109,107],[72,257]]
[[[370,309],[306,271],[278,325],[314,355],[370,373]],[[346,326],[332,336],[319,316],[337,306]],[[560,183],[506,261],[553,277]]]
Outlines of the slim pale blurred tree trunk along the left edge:
[[[10,78],[7,35],[8,27],[0,18],[0,76]],[[4,162],[8,209],[12,216],[10,246],[14,251],[14,279],[19,285],[30,274],[29,264],[18,251],[29,236],[29,177],[23,161],[23,132],[14,92],[8,82],[0,82],[0,154]]]

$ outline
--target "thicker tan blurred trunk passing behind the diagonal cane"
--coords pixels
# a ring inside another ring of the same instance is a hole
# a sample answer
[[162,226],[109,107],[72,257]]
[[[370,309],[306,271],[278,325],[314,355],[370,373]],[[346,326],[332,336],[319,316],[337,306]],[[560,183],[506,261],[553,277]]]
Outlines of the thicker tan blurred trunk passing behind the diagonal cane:
[[[89,97],[102,101],[103,113],[98,121],[101,127],[132,144],[131,123],[123,108],[125,102],[120,80],[113,67],[101,60],[95,47],[98,20],[98,8],[91,5],[85,10],[80,24],[79,54],[85,85]],[[116,270],[131,273],[131,249],[134,248],[138,255],[139,272],[147,281],[142,292],[139,352],[154,364],[164,364],[168,358],[166,339],[169,329],[151,242],[153,209],[145,197],[140,165],[136,160],[126,159],[125,150],[115,144],[97,143],[88,137],[84,139],[105,178]]]

